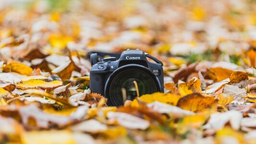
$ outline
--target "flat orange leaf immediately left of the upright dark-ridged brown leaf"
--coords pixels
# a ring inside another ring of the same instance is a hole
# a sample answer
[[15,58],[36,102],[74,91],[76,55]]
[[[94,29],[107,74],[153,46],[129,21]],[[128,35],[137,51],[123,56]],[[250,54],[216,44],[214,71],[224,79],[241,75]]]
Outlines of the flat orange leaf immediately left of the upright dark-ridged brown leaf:
[[208,76],[214,82],[219,82],[228,78],[232,74],[232,72],[233,72],[232,70],[216,67],[216,68],[210,68],[208,70]]

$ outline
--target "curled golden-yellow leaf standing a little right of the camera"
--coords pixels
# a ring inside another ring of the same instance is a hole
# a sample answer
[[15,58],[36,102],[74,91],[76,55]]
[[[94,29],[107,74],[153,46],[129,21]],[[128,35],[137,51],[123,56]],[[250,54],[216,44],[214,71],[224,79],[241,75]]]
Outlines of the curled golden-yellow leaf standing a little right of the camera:
[[181,96],[186,96],[192,93],[200,93],[201,89],[201,82],[196,77],[192,78],[187,83],[179,84],[178,86]]

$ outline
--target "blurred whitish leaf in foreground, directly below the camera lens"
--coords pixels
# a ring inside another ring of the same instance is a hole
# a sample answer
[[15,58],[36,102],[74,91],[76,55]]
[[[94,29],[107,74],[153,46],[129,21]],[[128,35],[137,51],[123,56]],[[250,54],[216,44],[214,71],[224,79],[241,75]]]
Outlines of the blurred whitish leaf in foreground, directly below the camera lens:
[[108,112],[107,117],[109,118],[109,121],[116,121],[121,126],[129,129],[146,130],[150,125],[149,121],[147,120],[123,112],[110,111]]

